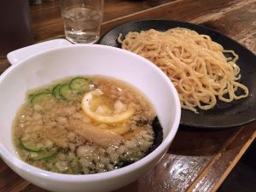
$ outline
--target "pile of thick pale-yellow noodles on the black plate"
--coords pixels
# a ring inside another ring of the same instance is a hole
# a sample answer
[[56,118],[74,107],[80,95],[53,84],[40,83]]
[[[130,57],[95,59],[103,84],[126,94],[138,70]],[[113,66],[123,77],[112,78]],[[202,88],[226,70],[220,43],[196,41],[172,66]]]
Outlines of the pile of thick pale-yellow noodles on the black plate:
[[182,108],[198,113],[196,108],[213,108],[217,98],[232,102],[248,96],[247,87],[237,82],[241,78],[238,55],[207,35],[177,27],[166,32],[129,32],[118,40],[122,49],[142,55],[166,73]]

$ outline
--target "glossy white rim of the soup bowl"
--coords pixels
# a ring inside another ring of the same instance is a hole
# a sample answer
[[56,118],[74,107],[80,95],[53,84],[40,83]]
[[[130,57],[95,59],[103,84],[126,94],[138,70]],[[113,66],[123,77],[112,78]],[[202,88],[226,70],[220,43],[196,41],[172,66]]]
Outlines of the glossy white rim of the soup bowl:
[[[52,51],[58,51],[60,49],[83,49],[83,48],[89,48],[93,46],[95,48],[99,49],[114,49],[115,51],[119,52],[124,52],[126,55],[131,55],[137,57],[139,60],[142,60],[144,63],[147,63],[148,66],[153,67],[154,71],[158,73],[158,75],[161,76],[161,78],[166,81],[166,84],[168,84],[169,90],[173,94],[173,98],[175,100],[175,115],[173,117],[173,123],[170,125],[171,130],[166,134],[165,139],[163,140],[162,143],[158,146],[158,148],[155,148],[154,151],[152,151],[150,154],[146,155],[143,157],[143,159],[138,160],[137,162],[132,163],[129,166],[121,167],[117,170],[109,171],[109,172],[102,172],[102,173],[95,173],[95,174],[84,174],[84,175],[70,175],[70,174],[65,174],[65,173],[56,173],[56,172],[49,172],[49,171],[44,171],[43,169],[40,169],[35,166],[31,166],[24,162],[23,160],[20,160],[18,156],[15,154],[12,154],[9,152],[7,148],[3,146],[3,143],[0,142],[0,156],[2,159],[9,165],[15,166],[15,168],[19,168],[23,172],[31,172],[32,175],[36,175],[37,177],[42,177],[44,179],[48,180],[55,180],[59,182],[67,182],[67,183],[80,183],[80,182],[95,182],[99,180],[108,180],[113,177],[119,177],[121,175],[126,175],[129,172],[133,172],[134,170],[137,170],[140,166],[147,165],[148,162],[151,160],[154,160],[154,156],[157,156],[159,154],[164,154],[166,150],[168,149],[168,146],[172,143],[173,138],[175,137],[178,129],[178,125],[180,122],[180,117],[181,117],[181,108],[180,108],[180,102],[179,98],[177,95],[177,90],[175,89],[174,85],[170,81],[170,79],[167,78],[166,74],[163,73],[159,67],[156,67],[151,61],[148,61],[147,59],[143,58],[140,55],[136,55],[128,50],[125,49],[118,49],[114,47],[110,47],[107,45],[102,45],[102,44],[71,44],[71,45],[66,45],[63,47],[58,47],[54,49],[48,49],[44,50],[42,52],[39,52],[38,54],[35,55],[30,55],[26,57],[24,60],[18,61],[15,65],[9,67],[7,70],[5,70],[1,75],[0,75],[0,84],[2,80],[9,75],[15,68],[22,67],[23,65],[26,65],[27,61],[32,60],[35,57],[38,57],[40,55],[45,55],[48,54],[49,52]],[[163,156],[163,155],[162,155]]]

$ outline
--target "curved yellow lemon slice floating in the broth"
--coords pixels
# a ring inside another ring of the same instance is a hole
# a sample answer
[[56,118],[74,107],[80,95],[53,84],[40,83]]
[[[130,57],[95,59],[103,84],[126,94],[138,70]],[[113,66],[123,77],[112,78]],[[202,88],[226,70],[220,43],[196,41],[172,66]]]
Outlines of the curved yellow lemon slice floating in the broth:
[[[94,102],[94,104],[91,104],[93,100],[99,100],[99,97],[103,96],[103,92],[100,89],[91,90],[84,94],[84,97],[82,99],[82,109],[84,113],[86,113],[88,116],[90,116],[91,119],[95,119],[98,122],[107,123],[107,124],[113,124],[113,123],[119,123],[125,121],[125,119],[129,119],[131,115],[135,112],[135,109],[131,107],[131,105],[127,106],[125,111],[121,111],[120,113],[109,113],[111,111],[108,106],[99,106],[103,108],[102,110],[107,110],[108,113],[101,113],[99,110],[92,110],[92,108],[95,108],[95,104],[97,102]],[[107,108],[107,109],[106,109]]]

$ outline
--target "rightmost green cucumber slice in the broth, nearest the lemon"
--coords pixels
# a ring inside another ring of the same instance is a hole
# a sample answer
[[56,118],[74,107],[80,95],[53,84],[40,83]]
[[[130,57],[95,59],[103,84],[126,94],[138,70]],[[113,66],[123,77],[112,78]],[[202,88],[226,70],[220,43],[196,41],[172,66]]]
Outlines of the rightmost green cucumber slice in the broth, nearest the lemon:
[[77,77],[70,81],[69,87],[71,90],[79,90],[80,92],[83,92],[90,90],[90,84],[91,82],[89,79]]

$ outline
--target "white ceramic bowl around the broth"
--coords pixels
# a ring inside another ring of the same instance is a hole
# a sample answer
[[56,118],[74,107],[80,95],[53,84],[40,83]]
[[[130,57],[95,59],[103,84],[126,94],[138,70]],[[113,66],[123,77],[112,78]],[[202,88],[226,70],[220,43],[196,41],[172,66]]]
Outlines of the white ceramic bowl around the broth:
[[[47,172],[19,159],[12,143],[12,123],[26,90],[74,75],[101,74],[134,85],[154,105],[164,140],[142,160],[112,172],[67,175]],[[158,67],[143,57],[104,45],[67,45],[32,55],[0,76],[0,154],[27,181],[51,191],[111,191],[135,181],[166,153],[177,132],[180,104],[177,91]]]

